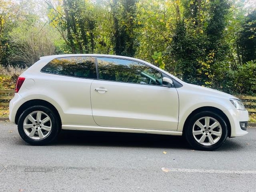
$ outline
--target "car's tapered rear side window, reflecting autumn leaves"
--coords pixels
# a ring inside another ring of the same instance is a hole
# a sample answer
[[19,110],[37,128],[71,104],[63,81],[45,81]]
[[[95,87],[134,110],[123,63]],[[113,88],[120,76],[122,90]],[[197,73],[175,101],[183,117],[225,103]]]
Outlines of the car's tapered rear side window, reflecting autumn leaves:
[[97,79],[95,58],[87,56],[55,58],[44,66],[41,72]]

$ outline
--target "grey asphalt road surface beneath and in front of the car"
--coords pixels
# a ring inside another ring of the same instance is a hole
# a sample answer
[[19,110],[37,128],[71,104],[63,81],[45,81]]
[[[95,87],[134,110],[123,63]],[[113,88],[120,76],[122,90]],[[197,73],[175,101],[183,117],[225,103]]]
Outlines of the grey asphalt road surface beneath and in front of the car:
[[248,132],[217,151],[194,151],[182,137],[87,131],[31,146],[2,121],[0,192],[256,192],[256,128]]

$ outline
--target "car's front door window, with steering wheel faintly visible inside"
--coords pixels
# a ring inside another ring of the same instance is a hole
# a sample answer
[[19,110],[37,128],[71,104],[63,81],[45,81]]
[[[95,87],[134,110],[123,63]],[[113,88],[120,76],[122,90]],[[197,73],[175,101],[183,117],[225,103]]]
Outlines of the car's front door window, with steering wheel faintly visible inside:
[[137,61],[97,58],[99,78],[137,84],[162,85],[162,73]]

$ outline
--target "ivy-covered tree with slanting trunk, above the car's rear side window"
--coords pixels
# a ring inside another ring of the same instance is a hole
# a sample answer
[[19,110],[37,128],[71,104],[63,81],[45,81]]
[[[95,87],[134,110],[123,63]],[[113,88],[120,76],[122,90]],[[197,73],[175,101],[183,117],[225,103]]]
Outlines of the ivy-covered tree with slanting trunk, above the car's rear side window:
[[49,6],[51,25],[60,32],[71,52],[94,52],[96,19],[93,4],[87,0],[63,0],[55,7],[50,0],[44,1]]

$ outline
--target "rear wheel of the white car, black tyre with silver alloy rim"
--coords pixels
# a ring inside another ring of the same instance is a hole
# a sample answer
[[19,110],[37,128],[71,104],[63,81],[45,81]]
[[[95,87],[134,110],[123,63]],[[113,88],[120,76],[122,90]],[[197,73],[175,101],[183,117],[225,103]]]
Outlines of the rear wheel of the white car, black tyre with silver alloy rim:
[[54,140],[60,130],[57,116],[44,106],[26,109],[18,120],[20,137],[32,145],[46,145]]

